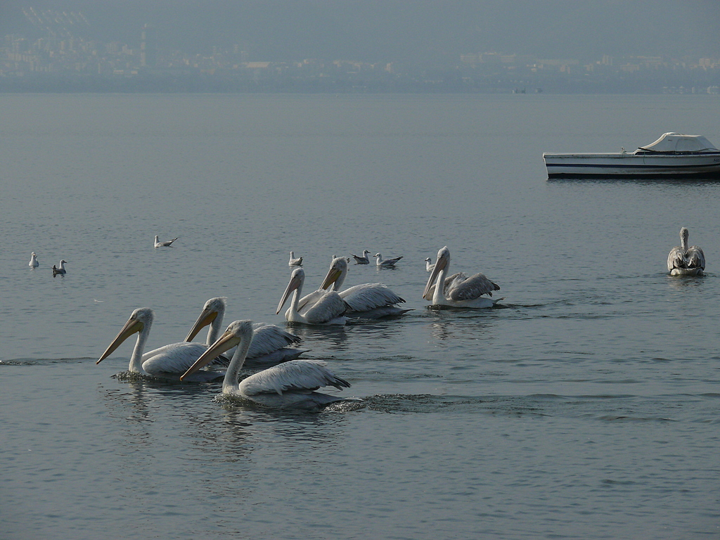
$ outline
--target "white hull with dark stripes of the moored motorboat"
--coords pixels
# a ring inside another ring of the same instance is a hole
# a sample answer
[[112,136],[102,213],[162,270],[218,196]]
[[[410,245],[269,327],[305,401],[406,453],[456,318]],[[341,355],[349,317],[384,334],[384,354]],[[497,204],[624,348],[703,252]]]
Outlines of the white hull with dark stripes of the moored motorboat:
[[718,176],[720,153],[657,154],[550,154],[543,159],[549,178],[568,176]]

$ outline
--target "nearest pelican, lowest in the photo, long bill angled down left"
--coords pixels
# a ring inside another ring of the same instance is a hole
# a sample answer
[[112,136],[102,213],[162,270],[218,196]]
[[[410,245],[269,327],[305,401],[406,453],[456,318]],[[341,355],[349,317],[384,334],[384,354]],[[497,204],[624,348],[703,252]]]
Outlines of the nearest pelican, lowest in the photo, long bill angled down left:
[[318,360],[292,360],[264,369],[238,382],[240,369],[243,367],[252,340],[251,322],[236,320],[180,377],[180,380],[194,374],[219,354],[236,347],[228,371],[225,372],[225,379],[222,381],[223,394],[279,409],[320,410],[328,403],[343,401],[342,397],[315,392],[323,386],[334,386],[338,390],[350,387],[350,383],[333,375],[325,367],[325,363]]

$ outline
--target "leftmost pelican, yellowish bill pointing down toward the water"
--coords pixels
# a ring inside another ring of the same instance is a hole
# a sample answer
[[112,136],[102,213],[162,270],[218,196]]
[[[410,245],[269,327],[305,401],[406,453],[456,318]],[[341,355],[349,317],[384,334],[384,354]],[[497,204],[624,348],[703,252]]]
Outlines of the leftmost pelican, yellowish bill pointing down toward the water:
[[[145,377],[179,379],[180,375],[186,372],[189,366],[192,366],[194,361],[207,351],[207,345],[204,345],[204,343],[172,343],[143,355],[145,343],[150,335],[150,327],[153,325],[153,318],[153,310],[149,307],[140,307],[133,311],[125,326],[122,327],[117,337],[105,349],[96,364],[110,356],[123,341],[137,332],[138,341],[135,342],[135,348],[132,349],[127,370],[131,373],[145,375]],[[191,380],[203,382],[217,379],[220,375],[217,372],[203,372],[202,374],[196,374]]]

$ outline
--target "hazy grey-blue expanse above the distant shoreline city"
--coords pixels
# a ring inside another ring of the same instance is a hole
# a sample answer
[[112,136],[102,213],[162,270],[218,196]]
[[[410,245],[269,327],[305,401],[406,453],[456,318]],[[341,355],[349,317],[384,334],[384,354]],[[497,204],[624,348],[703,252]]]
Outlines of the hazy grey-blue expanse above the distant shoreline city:
[[0,0],[0,33],[24,6],[81,10],[96,37],[188,52],[239,43],[251,60],[720,57],[720,0]]

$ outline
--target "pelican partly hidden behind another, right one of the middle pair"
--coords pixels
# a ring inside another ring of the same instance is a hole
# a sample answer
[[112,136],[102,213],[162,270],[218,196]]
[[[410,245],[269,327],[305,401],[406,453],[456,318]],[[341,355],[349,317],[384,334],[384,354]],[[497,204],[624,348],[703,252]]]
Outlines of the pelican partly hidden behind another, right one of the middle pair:
[[397,307],[396,304],[405,302],[394,292],[382,283],[363,283],[349,287],[344,291],[339,290],[345,277],[348,275],[348,262],[344,257],[333,257],[330,262],[328,274],[323,279],[320,289],[328,289],[338,292],[343,301],[348,305],[347,317],[361,317],[365,319],[379,319],[388,315],[402,315],[410,310]]

